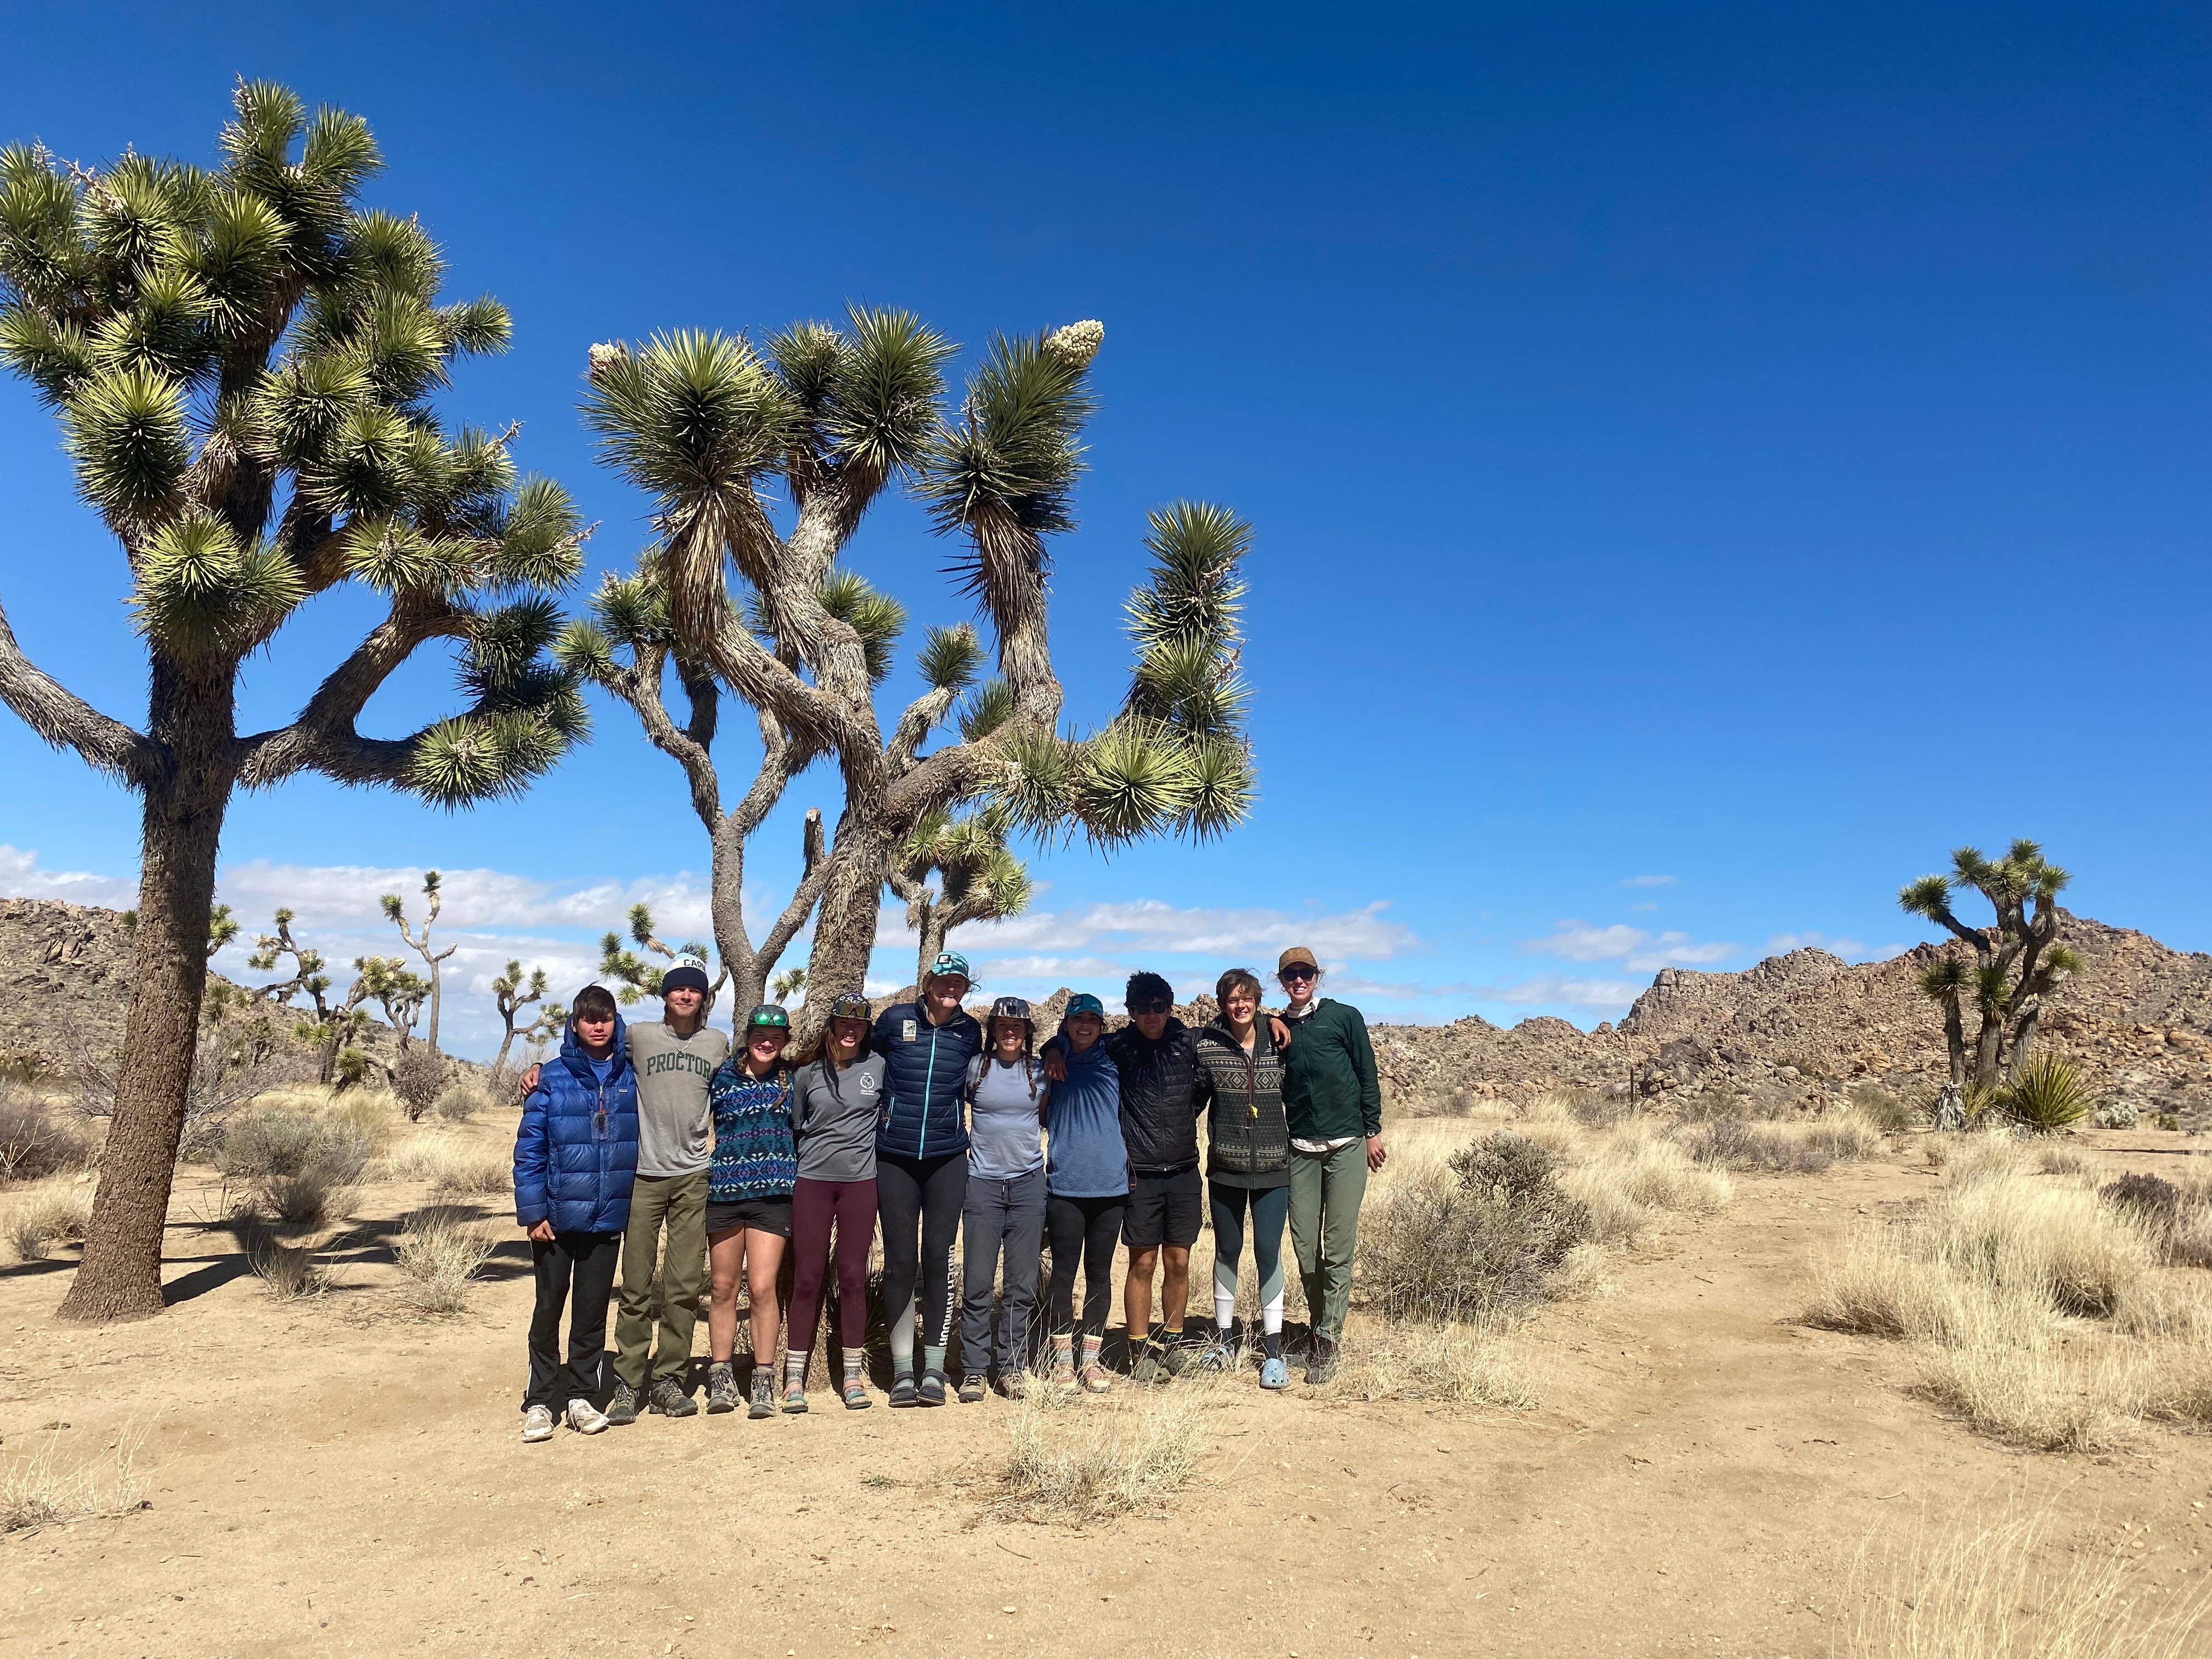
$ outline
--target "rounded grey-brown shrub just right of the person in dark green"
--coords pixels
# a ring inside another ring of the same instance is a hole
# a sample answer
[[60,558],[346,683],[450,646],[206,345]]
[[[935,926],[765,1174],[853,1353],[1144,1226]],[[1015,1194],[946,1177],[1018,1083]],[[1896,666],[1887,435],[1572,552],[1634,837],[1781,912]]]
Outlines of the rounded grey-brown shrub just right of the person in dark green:
[[1360,1219],[1360,1285],[1389,1318],[1444,1323],[1542,1301],[1590,1210],[1551,1152],[1498,1130],[1380,1192]]

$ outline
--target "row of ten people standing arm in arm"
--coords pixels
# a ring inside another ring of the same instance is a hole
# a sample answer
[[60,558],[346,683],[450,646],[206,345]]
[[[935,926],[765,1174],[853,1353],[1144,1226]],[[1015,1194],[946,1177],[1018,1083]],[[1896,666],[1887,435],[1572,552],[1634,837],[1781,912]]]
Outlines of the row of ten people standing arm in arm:
[[[1261,1298],[1250,1347],[1261,1385],[1287,1387],[1285,1225],[1312,1318],[1305,1380],[1325,1383],[1338,1367],[1360,1199],[1385,1159],[1383,1097],[1367,1024],[1358,1009],[1318,995],[1312,951],[1283,951],[1276,975],[1287,998],[1279,1015],[1261,1009],[1259,975],[1230,969],[1214,987],[1219,1015],[1192,1031],[1175,1018],[1161,975],[1133,973],[1126,1026],[1108,1033],[1104,1004],[1075,995],[1040,1044],[1020,998],[998,998],[982,1022],[967,1013],[969,962],[945,951],[911,1002],[878,1013],[860,995],[838,995],[821,1037],[796,1057],[790,1015],[774,1004],[752,1009],[734,1046],[714,1031],[703,964],[661,975],[657,1022],[626,1024],[613,993],[584,987],[560,1055],[522,1079],[515,1219],[538,1281],[522,1438],[551,1438],[560,1418],[597,1433],[639,1411],[695,1416],[701,1276],[710,1413],[807,1409],[810,1347],[832,1274],[838,1398],[852,1411],[869,1407],[863,1345],[878,1225],[894,1407],[945,1405],[953,1394],[982,1400],[993,1387],[1020,1398],[1040,1358],[1048,1383],[1110,1389],[1117,1245],[1128,1248],[1121,1310],[1133,1380],[1237,1363],[1237,1276],[1250,1245]],[[1190,1245],[1208,1212],[1214,1318],[1201,1334],[1186,1329],[1186,1310]],[[615,1387],[602,1409],[617,1263]],[[743,1391],[739,1287],[750,1303]],[[947,1374],[956,1307],[958,1389]],[[781,1378],[779,1327],[787,1332]]]

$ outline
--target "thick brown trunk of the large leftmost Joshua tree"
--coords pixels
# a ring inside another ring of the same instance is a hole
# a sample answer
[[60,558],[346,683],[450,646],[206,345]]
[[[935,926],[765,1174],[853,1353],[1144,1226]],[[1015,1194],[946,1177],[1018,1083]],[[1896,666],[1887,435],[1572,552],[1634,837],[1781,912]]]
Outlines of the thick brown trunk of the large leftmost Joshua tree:
[[215,856],[230,805],[230,719],[228,664],[215,675],[188,675],[155,657],[153,737],[175,763],[148,781],[144,796],[139,925],[131,942],[115,1117],[100,1159],[84,1265],[60,1307],[64,1318],[161,1312],[161,1234],[192,1086],[199,995],[208,984]]

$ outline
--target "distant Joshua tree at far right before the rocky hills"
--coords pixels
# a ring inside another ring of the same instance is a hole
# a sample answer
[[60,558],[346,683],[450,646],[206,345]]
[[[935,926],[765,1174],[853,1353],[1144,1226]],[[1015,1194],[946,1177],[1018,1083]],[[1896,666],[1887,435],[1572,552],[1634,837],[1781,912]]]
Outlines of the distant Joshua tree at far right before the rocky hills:
[[[2037,843],[2015,841],[1995,860],[1984,858],[1978,847],[1960,847],[1951,854],[1949,876],[1922,876],[1898,889],[1898,905],[1940,925],[1973,951],[1973,962],[1944,951],[1920,973],[1920,989],[1944,1011],[1953,1086],[1986,1095],[2000,1082],[2017,1082],[2035,1046],[2044,998],[2079,971],[2081,958],[2055,942],[2057,896],[2066,880],[2066,872],[2046,860]],[[1966,927],[1951,911],[1951,891],[1964,887],[1989,900],[1997,914],[1993,927]],[[1971,1068],[1964,1018],[1969,1000],[1980,1013]]]

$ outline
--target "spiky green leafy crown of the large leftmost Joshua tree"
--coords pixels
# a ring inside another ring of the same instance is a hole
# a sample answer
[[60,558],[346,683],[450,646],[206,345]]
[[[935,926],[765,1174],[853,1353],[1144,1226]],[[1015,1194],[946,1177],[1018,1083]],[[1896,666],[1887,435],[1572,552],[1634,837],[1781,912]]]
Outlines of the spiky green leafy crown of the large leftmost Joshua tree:
[[582,526],[507,438],[431,407],[458,358],[507,347],[507,312],[442,299],[425,228],[358,204],[380,166],[361,117],[268,82],[232,111],[215,168],[0,150],[0,361],[58,411],[153,650],[237,659],[347,577],[442,604],[473,706],[411,776],[513,790],[582,730],[531,608],[575,580]]

